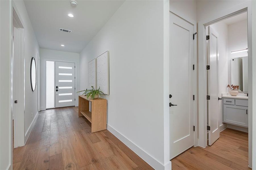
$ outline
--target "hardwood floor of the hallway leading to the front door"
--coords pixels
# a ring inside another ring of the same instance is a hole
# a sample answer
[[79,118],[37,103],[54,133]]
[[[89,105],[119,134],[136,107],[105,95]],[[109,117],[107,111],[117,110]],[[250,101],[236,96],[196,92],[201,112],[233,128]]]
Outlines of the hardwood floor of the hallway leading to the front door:
[[91,133],[78,107],[40,111],[25,146],[13,149],[13,169],[153,169],[108,130]]

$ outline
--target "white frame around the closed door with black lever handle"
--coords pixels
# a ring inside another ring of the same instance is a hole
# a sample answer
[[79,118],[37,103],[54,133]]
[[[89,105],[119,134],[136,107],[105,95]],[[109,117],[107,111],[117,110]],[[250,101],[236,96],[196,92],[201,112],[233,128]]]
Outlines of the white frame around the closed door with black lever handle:
[[[172,12],[172,11],[170,11],[169,10],[169,16],[170,16],[170,14],[174,14],[175,16],[177,16],[178,18],[180,18],[180,19],[182,19],[182,20],[184,20],[185,22],[188,22],[189,24],[191,24],[191,25],[193,25],[193,27],[194,27],[194,32],[197,32],[197,22],[195,21],[195,20],[187,20],[187,19],[185,19],[185,18],[183,18],[182,17],[182,13],[178,13],[178,11],[176,11],[176,13],[175,12]],[[195,132],[194,132],[194,146],[198,146],[198,126],[197,126],[197,122],[198,122],[198,117],[197,117],[197,103],[198,103],[198,94],[197,94],[197,86],[198,86],[198,84],[197,84],[197,75],[198,75],[198,69],[197,69],[197,67],[198,67],[198,62],[197,62],[197,35],[198,34],[196,34],[195,35],[195,39],[194,39],[194,56],[193,56],[193,63],[194,63],[194,70],[193,70],[193,93],[194,93],[194,95],[195,95],[195,100],[194,100],[194,102],[193,102],[193,120],[194,120],[194,126],[195,126]],[[169,35],[170,36],[170,35]],[[169,53],[171,53],[171,51],[169,52]],[[170,56],[168,56],[168,58],[169,58]],[[169,63],[169,61],[168,61],[168,63]],[[168,71],[169,71],[169,68],[168,68]],[[168,81],[168,84],[169,84],[169,81]],[[169,88],[169,86],[168,86],[168,88]],[[168,99],[168,101],[169,101],[169,99]],[[170,114],[170,111],[168,112],[169,114]],[[171,142],[171,141],[170,141]],[[170,144],[169,144],[170,145]]]

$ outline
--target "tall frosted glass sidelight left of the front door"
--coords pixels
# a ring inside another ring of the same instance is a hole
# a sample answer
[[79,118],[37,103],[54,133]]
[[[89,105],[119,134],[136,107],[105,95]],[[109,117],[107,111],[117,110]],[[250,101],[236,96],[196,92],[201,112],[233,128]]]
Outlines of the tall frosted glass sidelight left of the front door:
[[46,61],[46,109],[54,107],[54,61]]

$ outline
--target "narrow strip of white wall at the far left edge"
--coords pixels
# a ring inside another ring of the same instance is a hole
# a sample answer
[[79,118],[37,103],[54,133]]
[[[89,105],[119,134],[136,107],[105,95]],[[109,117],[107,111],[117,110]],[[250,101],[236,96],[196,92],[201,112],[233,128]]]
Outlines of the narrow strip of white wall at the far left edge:
[[[0,169],[12,164],[11,1],[0,1]],[[12,167],[10,167],[12,168]]]

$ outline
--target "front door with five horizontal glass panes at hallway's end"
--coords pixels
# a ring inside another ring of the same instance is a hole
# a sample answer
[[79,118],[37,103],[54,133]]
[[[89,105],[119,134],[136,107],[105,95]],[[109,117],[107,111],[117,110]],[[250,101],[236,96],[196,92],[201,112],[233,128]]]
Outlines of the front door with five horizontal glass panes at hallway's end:
[[75,63],[55,61],[55,107],[75,105]]

